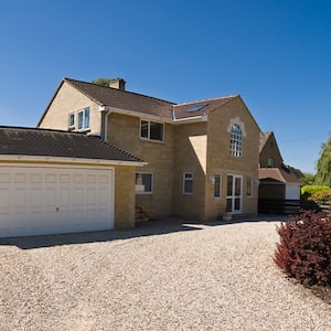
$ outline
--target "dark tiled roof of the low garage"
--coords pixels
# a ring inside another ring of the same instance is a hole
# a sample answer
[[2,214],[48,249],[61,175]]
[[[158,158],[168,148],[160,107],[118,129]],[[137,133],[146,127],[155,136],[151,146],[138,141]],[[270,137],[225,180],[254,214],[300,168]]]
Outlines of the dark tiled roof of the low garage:
[[17,127],[0,127],[0,154],[141,162],[95,136]]

